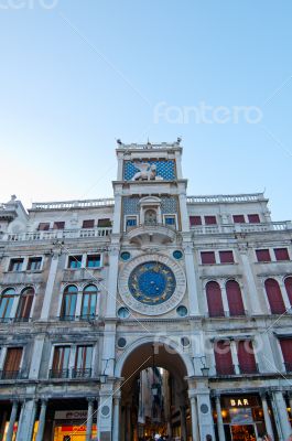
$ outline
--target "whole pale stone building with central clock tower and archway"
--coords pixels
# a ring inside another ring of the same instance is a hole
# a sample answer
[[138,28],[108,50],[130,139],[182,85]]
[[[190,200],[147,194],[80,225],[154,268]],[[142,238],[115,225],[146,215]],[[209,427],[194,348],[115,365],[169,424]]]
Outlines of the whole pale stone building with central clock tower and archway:
[[[113,197],[0,205],[0,439],[284,441],[292,224],[117,147]],[[191,176],[192,178],[192,176]]]

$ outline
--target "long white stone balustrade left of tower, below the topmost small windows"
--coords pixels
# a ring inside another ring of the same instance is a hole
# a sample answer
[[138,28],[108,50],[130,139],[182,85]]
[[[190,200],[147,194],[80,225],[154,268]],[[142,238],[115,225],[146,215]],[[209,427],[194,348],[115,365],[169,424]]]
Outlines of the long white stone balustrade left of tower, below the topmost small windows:
[[6,241],[41,241],[56,239],[80,239],[86,237],[107,237],[111,235],[111,227],[80,228],[80,229],[50,229],[46,232],[6,233],[0,236]]

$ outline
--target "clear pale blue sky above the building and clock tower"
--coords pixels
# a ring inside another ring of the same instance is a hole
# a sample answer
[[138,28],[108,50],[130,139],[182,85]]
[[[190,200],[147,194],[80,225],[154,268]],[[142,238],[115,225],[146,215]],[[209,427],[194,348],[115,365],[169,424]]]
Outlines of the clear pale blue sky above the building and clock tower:
[[[292,218],[291,21],[291,0],[0,0],[0,201],[111,195],[116,138],[181,136],[190,195],[266,189]],[[263,116],[155,123],[162,101]]]

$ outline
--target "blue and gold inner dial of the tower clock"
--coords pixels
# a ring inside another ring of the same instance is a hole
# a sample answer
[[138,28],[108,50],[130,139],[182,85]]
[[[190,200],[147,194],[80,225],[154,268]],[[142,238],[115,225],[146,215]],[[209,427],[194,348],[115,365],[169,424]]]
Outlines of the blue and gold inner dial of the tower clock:
[[136,267],[129,277],[129,290],[141,303],[160,304],[175,291],[175,277],[164,263],[149,261]]

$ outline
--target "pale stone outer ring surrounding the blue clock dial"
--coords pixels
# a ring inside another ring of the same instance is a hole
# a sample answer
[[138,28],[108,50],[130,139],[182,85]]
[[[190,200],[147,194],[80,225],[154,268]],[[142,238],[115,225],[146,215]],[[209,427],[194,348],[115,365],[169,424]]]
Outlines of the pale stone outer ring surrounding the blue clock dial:
[[[129,289],[129,280],[137,268],[139,268],[143,263],[149,263],[153,261],[162,263],[162,266],[169,267],[171,269],[175,278],[175,289],[172,295],[164,302],[159,304],[147,304],[134,299]],[[169,258],[167,256],[151,254],[139,256],[136,259],[132,259],[130,262],[126,263],[125,268],[119,275],[118,287],[122,300],[133,311],[145,315],[162,315],[177,306],[177,304],[183,299],[186,290],[186,278],[184,270],[180,263]]]

